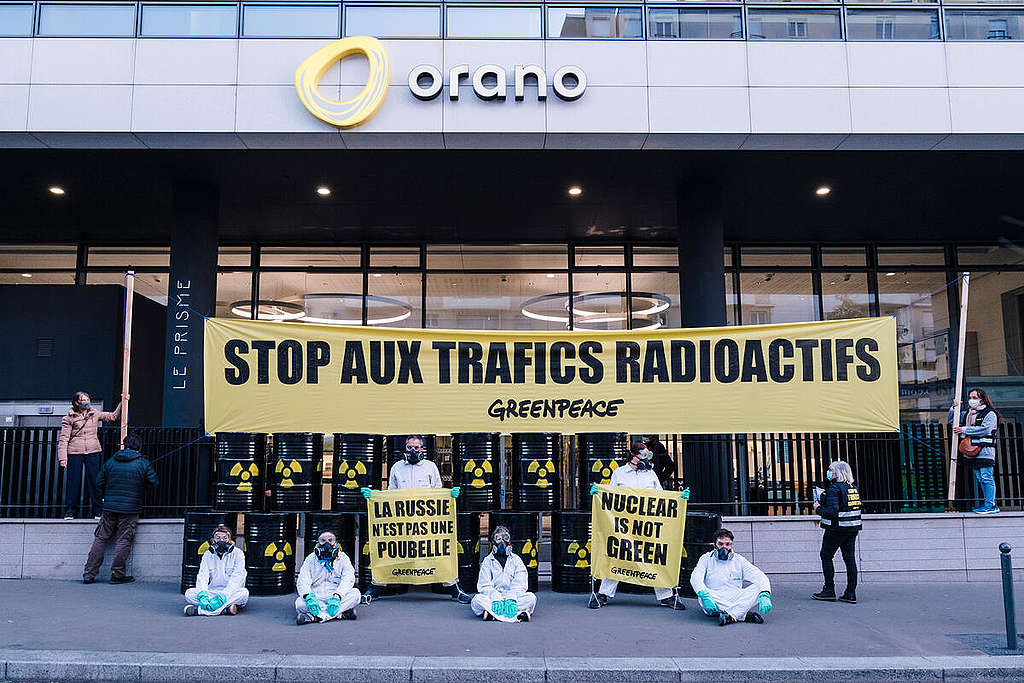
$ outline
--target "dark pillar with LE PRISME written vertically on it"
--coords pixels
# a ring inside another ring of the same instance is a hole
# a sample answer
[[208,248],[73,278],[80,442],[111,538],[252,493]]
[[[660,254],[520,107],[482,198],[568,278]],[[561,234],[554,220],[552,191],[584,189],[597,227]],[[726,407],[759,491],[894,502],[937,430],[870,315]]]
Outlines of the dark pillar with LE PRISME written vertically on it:
[[165,427],[203,426],[203,316],[217,295],[219,194],[211,185],[171,182],[171,273],[164,354]]

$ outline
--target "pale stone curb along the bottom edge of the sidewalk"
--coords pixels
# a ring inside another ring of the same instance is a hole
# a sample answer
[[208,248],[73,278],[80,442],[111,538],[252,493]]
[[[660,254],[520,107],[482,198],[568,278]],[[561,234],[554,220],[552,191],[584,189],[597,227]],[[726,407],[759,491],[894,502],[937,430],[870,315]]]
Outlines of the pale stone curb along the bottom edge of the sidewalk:
[[[738,676],[737,676],[738,675]],[[0,650],[2,680],[1024,681],[1024,655],[902,657],[412,657]]]

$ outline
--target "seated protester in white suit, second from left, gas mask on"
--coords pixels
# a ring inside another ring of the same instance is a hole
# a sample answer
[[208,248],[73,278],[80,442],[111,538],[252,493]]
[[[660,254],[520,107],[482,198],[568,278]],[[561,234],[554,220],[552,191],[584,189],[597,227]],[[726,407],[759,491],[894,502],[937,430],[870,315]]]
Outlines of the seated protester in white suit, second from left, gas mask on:
[[313,552],[306,556],[299,569],[295,587],[299,597],[295,600],[299,626],[313,622],[328,622],[340,616],[355,618],[359,604],[359,590],[355,586],[355,571],[348,555],[338,548],[338,540],[331,531],[324,531],[316,541]]

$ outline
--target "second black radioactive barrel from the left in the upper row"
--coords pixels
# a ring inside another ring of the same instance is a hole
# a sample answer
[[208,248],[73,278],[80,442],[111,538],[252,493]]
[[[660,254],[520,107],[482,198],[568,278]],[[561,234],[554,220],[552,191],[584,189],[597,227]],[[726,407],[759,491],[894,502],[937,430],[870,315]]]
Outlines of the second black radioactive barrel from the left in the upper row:
[[324,434],[274,434],[273,456],[269,465],[271,510],[317,512],[322,509]]

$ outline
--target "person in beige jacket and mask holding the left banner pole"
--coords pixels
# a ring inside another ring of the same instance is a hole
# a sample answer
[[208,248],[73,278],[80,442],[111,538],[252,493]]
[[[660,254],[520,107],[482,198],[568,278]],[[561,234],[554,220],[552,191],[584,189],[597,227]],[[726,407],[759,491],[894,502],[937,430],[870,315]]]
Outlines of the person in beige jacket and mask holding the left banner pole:
[[[122,396],[122,400],[125,396]],[[85,468],[85,480],[89,486],[89,499],[92,501],[92,511],[96,519],[102,512],[102,500],[96,485],[99,474],[101,451],[99,446],[100,421],[117,422],[121,420],[121,403],[113,413],[95,411],[90,402],[89,393],[78,391],[71,401],[71,410],[60,420],[60,436],[57,438],[57,460],[60,467],[68,473],[68,485],[65,487],[65,519],[74,519],[78,513],[78,497],[82,488],[82,469]]]

